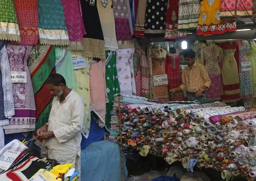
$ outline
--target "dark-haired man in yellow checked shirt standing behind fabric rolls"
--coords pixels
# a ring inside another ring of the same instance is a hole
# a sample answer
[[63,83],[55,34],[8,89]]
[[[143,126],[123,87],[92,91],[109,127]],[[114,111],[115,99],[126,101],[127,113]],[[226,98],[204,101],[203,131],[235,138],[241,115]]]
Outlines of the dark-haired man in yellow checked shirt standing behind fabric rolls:
[[181,53],[187,63],[187,67],[182,71],[182,84],[179,87],[171,89],[171,93],[186,89],[188,93],[187,101],[195,101],[197,99],[206,99],[205,89],[212,84],[206,68],[195,62],[196,53],[187,48]]

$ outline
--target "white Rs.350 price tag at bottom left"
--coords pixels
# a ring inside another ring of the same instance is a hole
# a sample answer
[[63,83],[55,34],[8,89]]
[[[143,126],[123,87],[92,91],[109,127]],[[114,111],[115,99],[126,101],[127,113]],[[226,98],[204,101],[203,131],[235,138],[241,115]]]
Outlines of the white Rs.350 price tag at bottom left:
[[19,155],[20,152],[18,151],[6,150],[4,154],[0,156],[0,169],[7,170]]

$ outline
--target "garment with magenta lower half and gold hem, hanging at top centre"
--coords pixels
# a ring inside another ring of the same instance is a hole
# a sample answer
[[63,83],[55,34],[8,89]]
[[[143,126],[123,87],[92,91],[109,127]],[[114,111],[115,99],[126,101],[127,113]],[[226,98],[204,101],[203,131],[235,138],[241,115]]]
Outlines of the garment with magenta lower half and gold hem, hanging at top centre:
[[127,0],[112,0],[112,3],[114,10],[115,33],[117,36],[118,48],[134,48],[128,18]]

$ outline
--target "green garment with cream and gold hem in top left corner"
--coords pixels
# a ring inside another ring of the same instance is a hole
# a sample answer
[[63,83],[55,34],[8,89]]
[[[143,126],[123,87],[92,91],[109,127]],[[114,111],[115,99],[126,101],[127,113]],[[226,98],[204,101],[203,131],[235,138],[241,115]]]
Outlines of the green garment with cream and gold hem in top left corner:
[[20,42],[20,30],[13,0],[0,1],[0,40]]

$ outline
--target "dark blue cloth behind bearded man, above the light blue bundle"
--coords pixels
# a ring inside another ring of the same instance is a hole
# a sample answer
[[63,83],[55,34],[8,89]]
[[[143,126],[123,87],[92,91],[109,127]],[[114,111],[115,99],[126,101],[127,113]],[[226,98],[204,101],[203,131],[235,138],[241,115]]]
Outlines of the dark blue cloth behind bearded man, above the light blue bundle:
[[101,128],[97,125],[91,115],[90,133],[87,139],[82,135],[81,150],[84,150],[91,143],[102,141],[104,139],[105,130],[105,127]]

